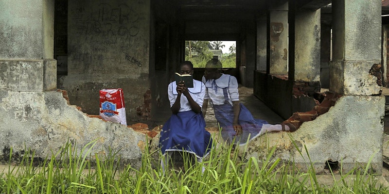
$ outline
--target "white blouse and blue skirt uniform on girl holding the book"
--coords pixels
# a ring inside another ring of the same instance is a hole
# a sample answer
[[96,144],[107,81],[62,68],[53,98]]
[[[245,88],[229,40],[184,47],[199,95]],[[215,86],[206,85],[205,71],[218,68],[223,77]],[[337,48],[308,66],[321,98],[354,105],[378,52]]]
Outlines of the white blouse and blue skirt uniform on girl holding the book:
[[[177,98],[177,85],[173,81],[168,86],[168,97],[170,107]],[[205,96],[205,86],[201,81],[194,80],[194,87],[188,88],[189,94],[200,106],[203,105]],[[203,114],[195,113],[188,99],[181,94],[180,109],[177,114],[172,114],[163,125],[159,139],[162,154],[166,151],[185,151],[195,154],[197,158],[207,156],[211,150],[211,134],[205,130],[205,120]]]

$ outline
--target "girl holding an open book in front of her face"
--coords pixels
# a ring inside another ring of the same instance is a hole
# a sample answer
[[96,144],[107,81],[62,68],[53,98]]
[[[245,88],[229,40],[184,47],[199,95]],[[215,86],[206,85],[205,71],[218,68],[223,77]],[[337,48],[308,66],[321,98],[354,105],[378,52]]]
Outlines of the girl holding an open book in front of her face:
[[[184,61],[179,65],[179,74],[193,75],[193,64]],[[184,81],[173,81],[167,92],[172,115],[163,125],[159,145],[162,151],[162,173],[173,151],[185,151],[194,156],[197,162],[208,155],[212,146],[211,134],[205,130],[205,120],[201,112],[205,96],[205,86],[201,81],[193,80],[193,88]],[[202,172],[204,172],[204,166]]]

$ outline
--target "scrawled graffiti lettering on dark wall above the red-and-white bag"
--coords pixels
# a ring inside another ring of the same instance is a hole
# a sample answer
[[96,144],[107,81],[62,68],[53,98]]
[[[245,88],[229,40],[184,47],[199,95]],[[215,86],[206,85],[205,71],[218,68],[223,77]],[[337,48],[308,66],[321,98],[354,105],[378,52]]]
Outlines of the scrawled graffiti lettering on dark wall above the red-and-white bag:
[[142,53],[128,53],[142,44],[140,31],[144,18],[141,11],[127,3],[76,4],[69,9],[73,36],[70,61],[83,65],[73,68],[84,72],[101,68],[123,72],[118,68],[142,66]]

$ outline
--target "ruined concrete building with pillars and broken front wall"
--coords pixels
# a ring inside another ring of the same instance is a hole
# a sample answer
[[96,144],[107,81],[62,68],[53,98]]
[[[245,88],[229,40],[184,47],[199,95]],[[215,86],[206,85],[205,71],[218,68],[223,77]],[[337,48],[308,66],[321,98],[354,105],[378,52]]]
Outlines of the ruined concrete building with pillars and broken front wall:
[[274,158],[305,164],[293,139],[317,173],[333,161],[345,171],[371,162],[380,174],[386,8],[379,0],[0,1],[2,155],[26,145],[44,158],[68,139],[99,138],[95,152],[121,148],[139,166],[150,137],[94,118],[99,91],[123,88],[127,123],[154,128],[170,115],[166,87],[185,40],[221,40],[236,41],[230,73],[241,86],[299,127],[256,138],[246,157],[263,157],[268,142]]

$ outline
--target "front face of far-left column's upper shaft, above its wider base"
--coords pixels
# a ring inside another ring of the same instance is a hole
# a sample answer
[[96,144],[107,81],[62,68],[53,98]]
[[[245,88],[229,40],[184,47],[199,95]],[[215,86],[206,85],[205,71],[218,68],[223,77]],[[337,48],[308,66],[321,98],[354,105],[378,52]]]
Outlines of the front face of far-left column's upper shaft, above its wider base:
[[0,2],[0,59],[42,59],[42,9],[42,0]]

